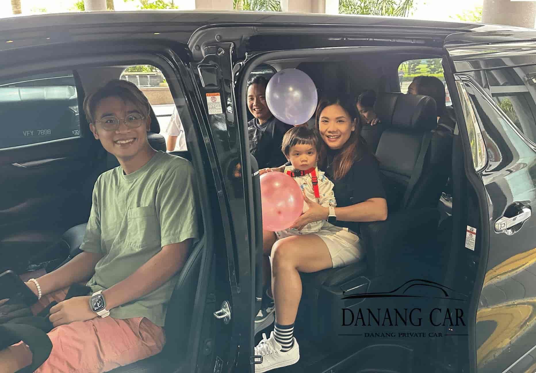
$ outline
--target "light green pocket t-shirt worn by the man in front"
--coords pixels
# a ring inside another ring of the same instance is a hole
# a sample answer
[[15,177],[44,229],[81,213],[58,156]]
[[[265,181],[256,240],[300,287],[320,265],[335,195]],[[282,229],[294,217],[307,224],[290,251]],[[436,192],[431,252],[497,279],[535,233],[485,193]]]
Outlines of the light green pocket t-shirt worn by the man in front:
[[[80,249],[102,253],[87,283],[93,292],[129,277],[163,246],[198,238],[193,168],[188,160],[158,152],[139,170],[121,166],[99,176]],[[153,292],[110,310],[114,318],[146,317],[163,326],[178,273]]]

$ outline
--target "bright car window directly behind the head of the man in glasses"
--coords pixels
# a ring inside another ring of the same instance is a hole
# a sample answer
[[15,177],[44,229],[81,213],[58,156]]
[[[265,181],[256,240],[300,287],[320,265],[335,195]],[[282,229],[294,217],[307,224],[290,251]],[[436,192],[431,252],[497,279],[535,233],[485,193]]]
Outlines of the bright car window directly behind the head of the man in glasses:
[[[160,134],[166,138],[168,151],[187,151],[181,118],[162,72],[151,65],[130,66],[123,71],[121,79],[136,84],[147,96],[157,116]],[[173,148],[169,146],[173,145],[170,141],[175,143]]]

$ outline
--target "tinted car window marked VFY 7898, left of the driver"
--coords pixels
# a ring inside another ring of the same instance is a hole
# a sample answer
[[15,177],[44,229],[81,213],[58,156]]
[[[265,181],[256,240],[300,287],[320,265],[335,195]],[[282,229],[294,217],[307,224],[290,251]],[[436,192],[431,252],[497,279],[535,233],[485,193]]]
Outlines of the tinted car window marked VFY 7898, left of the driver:
[[0,81],[0,148],[80,136],[72,71]]

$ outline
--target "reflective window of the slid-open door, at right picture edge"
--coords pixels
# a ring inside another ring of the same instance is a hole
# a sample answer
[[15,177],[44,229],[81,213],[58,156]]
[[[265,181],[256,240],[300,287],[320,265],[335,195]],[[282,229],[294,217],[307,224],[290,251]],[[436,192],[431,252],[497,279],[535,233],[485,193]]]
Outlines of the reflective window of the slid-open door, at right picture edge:
[[493,101],[536,143],[536,65],[488,70],[486,76]]

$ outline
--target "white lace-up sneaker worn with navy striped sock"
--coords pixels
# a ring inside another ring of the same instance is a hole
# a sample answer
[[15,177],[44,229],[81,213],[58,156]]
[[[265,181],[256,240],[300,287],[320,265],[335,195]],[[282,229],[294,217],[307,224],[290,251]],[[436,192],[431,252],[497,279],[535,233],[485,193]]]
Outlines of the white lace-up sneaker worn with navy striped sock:
[[255,373],[286,367],[300,360],[300,346],[296,338],[292,339],[294,346],[286,352],[281,352],[281,345],[276,341],[273,332],[270,333],[269,339],[266,339],[266,334],[263,333],[263,339],[255,347],[255,355],[262,356],[263,362],[255,364]]

